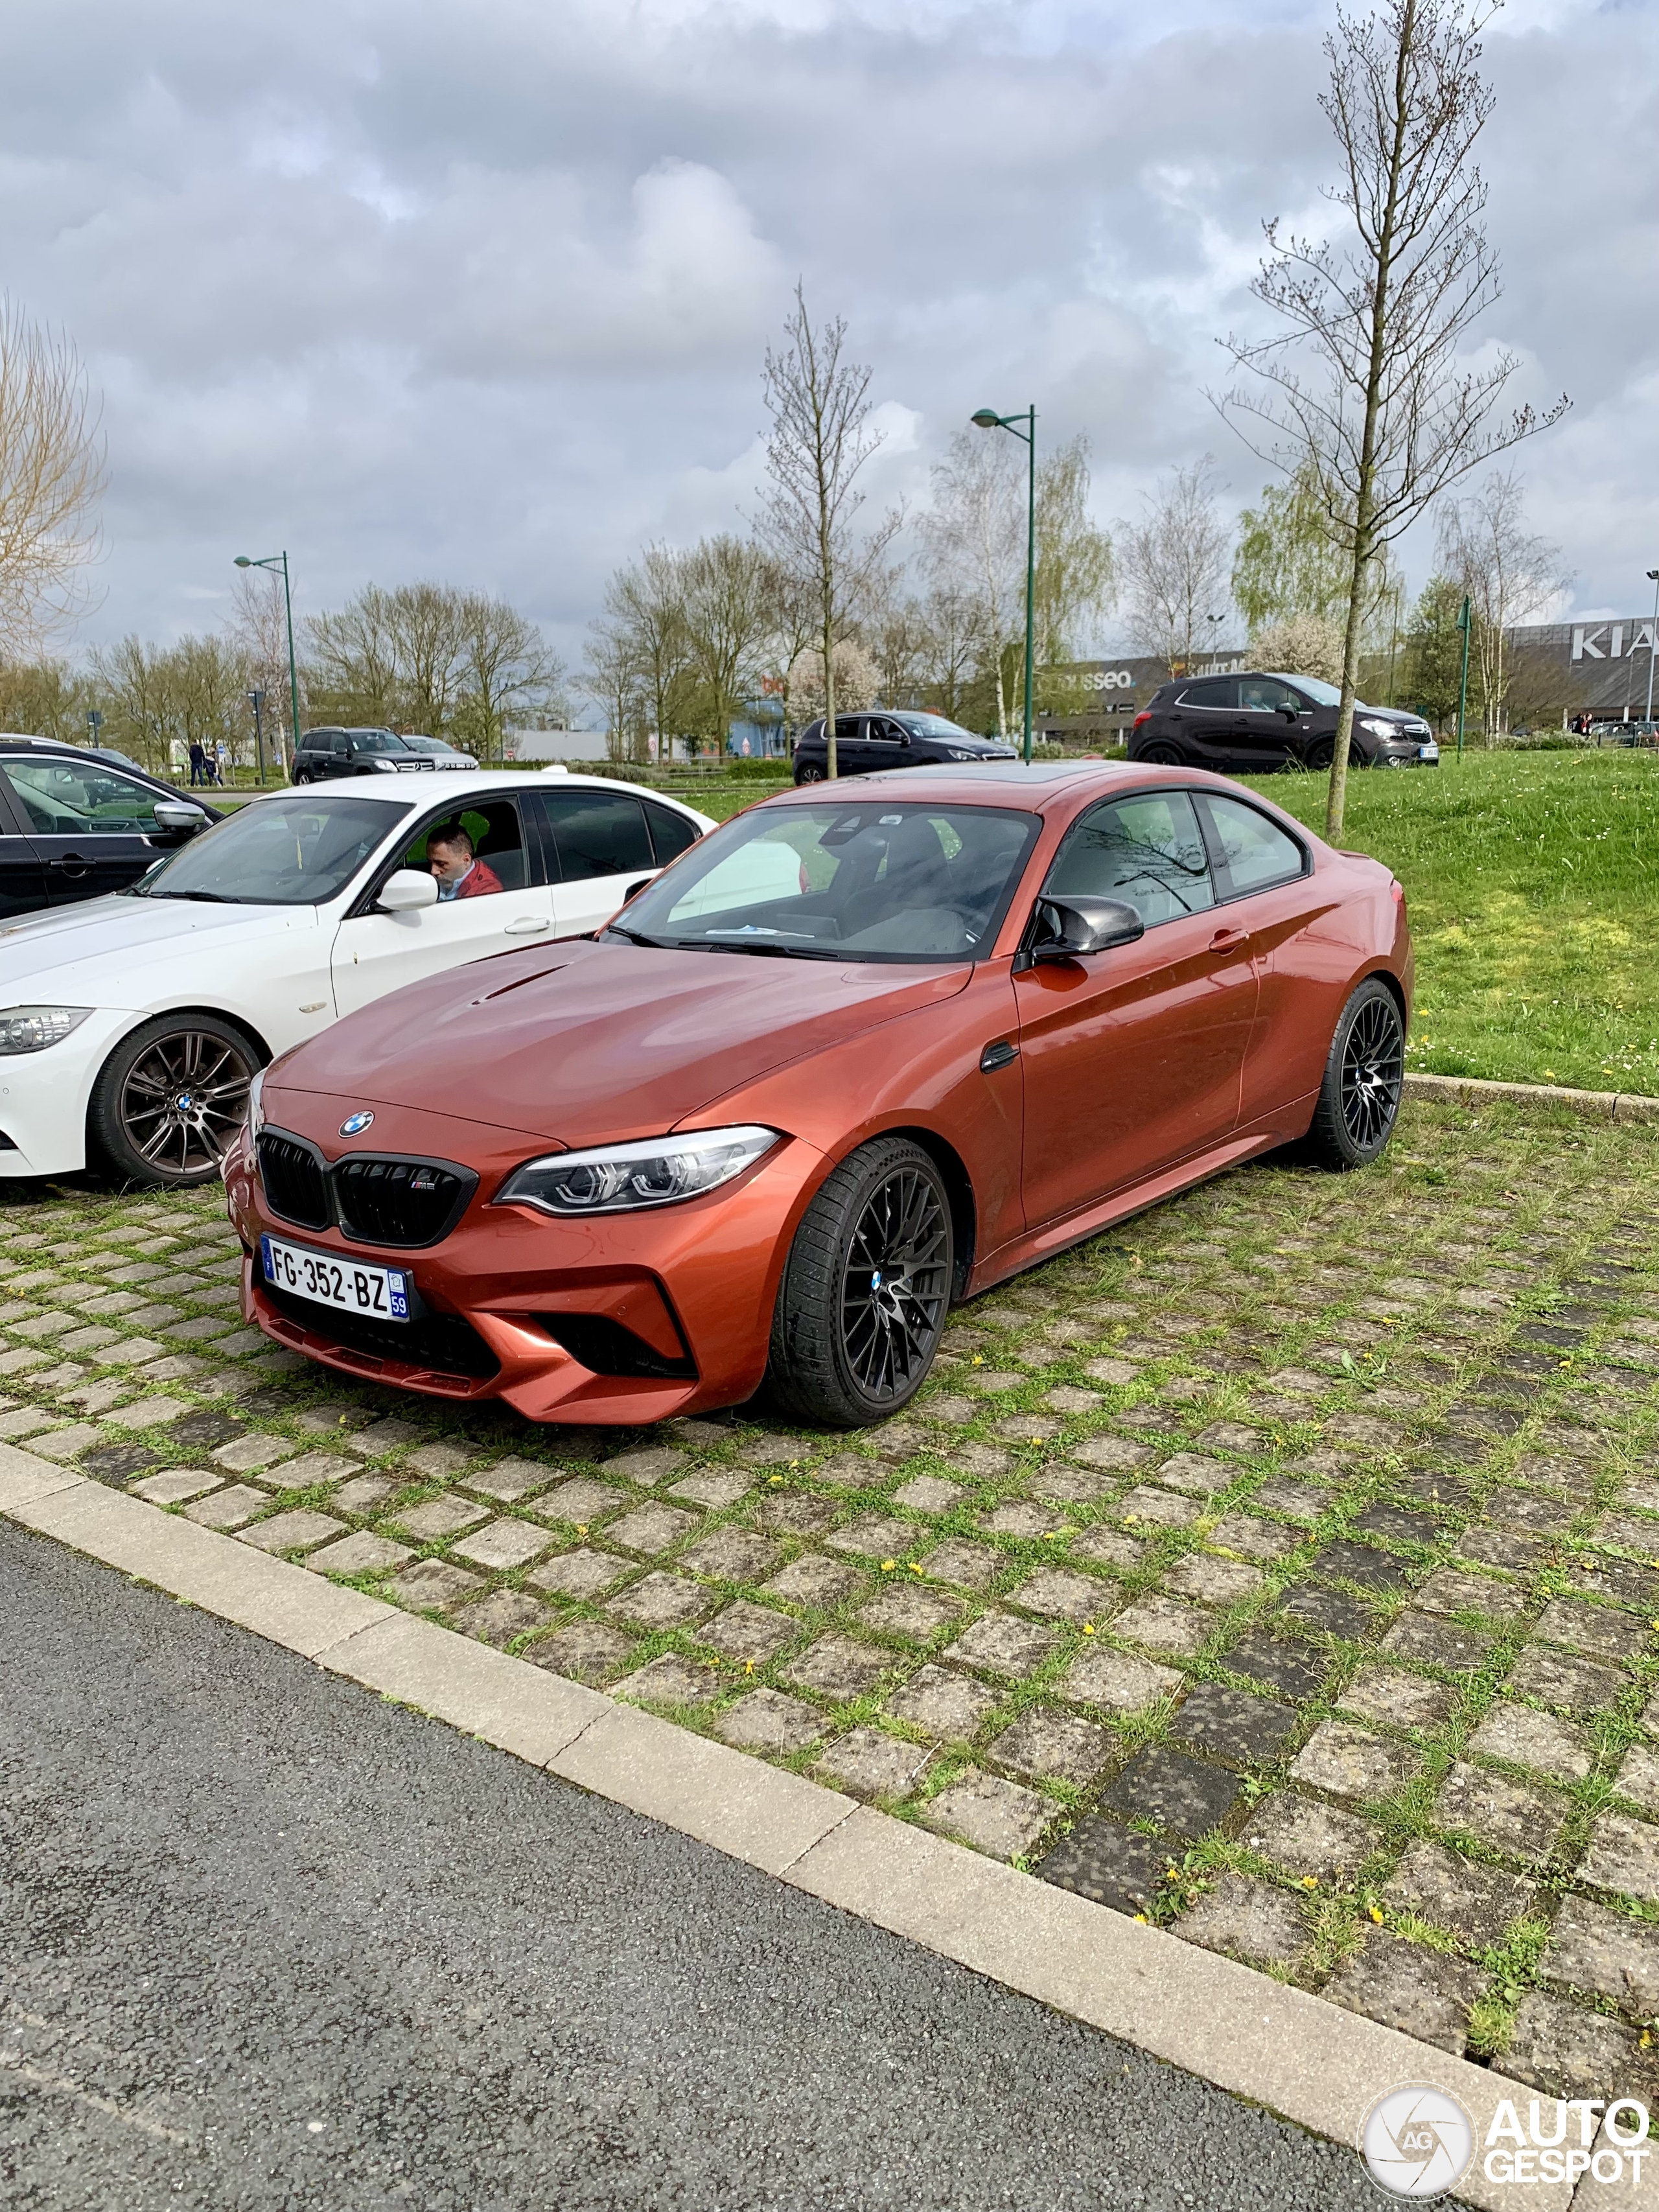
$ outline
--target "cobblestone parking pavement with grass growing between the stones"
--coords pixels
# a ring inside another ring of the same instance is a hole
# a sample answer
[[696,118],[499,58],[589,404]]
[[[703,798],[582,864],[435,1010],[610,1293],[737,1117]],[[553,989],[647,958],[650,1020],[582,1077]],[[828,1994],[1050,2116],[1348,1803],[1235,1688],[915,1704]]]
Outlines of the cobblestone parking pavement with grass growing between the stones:
[[[854,1438],[535,1429],[0,1192],[0,1436],[1551,2095],[1652,2093],[1659,1164],[1416,1104],[964,1307]],[[1659,2070],[1659,2068],[1657,2068]]]

